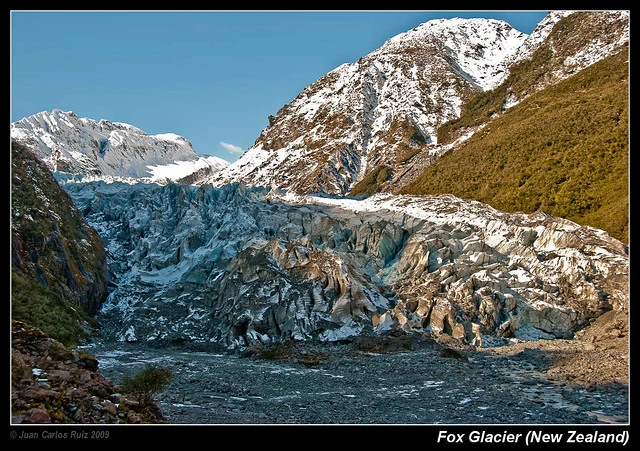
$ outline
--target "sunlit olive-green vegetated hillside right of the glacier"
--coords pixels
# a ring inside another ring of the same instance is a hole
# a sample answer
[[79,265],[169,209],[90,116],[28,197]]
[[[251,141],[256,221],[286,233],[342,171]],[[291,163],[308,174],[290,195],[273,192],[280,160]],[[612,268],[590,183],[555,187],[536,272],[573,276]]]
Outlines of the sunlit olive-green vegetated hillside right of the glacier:
[[400,193],[543,210],[628,243],[628,59],[625,49],[531,95]]

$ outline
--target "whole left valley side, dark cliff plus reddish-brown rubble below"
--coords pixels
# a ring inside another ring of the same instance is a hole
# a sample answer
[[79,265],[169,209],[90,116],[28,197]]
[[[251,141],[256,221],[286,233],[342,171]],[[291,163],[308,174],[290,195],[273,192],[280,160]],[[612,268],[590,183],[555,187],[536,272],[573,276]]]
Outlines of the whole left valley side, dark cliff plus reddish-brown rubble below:
[[[76,345],[107,296],[101,238],[31,150],[11,143],[11,422],[162,423]],[[46,331],[46,332],[45,332]]]

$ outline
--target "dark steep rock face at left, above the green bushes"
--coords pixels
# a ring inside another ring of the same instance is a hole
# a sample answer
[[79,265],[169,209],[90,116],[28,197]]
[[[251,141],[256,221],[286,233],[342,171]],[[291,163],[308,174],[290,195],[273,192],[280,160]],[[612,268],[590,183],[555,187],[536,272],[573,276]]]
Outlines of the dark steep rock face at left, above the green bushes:
[[107,296],[102,240],[29,149],[11,151],[12,269],[94,315]]

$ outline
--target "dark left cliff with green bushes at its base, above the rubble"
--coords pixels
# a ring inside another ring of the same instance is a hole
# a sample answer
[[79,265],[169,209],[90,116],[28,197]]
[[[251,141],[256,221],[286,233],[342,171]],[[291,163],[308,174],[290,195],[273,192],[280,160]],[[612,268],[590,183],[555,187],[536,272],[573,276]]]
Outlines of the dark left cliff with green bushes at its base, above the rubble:
[[86,338],[107,296],[101,238],[47,167],[11,145],[12,314],[64,342]]

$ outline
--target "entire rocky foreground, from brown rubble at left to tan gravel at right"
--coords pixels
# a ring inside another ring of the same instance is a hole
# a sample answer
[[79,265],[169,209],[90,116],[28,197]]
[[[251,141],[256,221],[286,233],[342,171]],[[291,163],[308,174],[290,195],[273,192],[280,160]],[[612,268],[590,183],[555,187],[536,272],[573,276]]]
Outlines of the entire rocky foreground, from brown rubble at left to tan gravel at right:
[[[487,343],[392,334],[285,342],[242,354],[93,343],[69,350],[20,322],[12,423],[325,425],[628,424],[628,318],[605,313],[573,340]],[[142,409],[118,384],[174,374]]]

